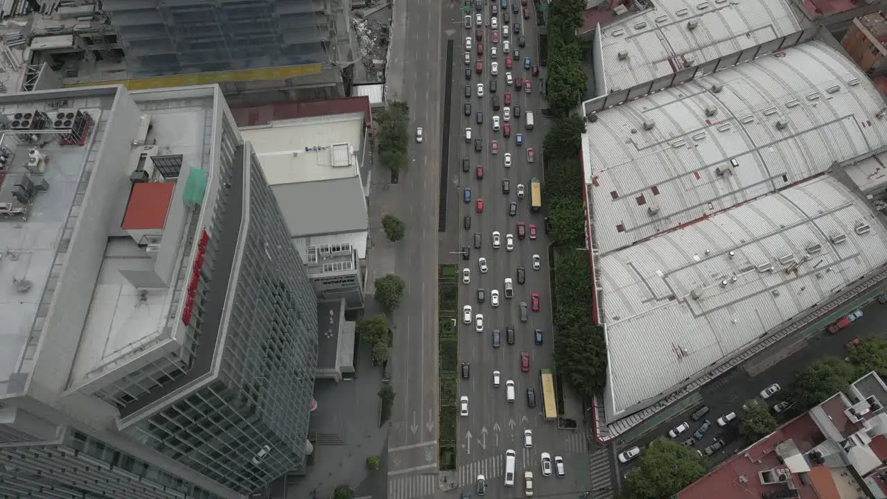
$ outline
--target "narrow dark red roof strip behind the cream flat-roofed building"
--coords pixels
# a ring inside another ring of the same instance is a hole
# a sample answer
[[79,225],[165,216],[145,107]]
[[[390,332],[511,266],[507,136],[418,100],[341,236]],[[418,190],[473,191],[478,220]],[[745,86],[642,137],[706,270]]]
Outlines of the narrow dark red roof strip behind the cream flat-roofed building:
[[237,126],[255,126],[277,120],[345,115],[349,113],[363,113],[366,116],[366,123],[368,125],[372,123],[373,113],[370,111],[370,98],[360,96],[343,97],[341,99],[307,100],[304,102],[282,102],[266,106],[235,107],[231,110]]

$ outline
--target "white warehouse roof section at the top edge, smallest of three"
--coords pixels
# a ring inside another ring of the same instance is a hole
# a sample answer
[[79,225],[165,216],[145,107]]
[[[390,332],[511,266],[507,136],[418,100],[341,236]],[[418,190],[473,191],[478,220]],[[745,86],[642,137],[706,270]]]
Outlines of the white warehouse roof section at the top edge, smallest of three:
[[595,70],[603,71],[608,88],[599,93],[629,89],[801,30],[786,0],[653,4],[600,28],[602,67]]

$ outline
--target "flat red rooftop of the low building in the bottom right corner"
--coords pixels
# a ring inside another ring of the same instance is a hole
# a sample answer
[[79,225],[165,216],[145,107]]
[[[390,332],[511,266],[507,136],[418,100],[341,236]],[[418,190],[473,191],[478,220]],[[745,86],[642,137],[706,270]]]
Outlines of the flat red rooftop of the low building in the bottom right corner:
[[[797,416],[784,424],[779,432],[758,440],[741,454],[734,455],[703,478],[681,490],[677,495],[678,499],[760,497],[764,492],[778,490],[781,486],[762,485],[758,472],[784,467],[774,448],[780,442],[789,439],[795,442],[798,450],[805,453],[825,440],[825,437],[809,415]],[[801,497],[816,497],[812,486],[802,483],[797,474],[791,475],[791,479]]]

